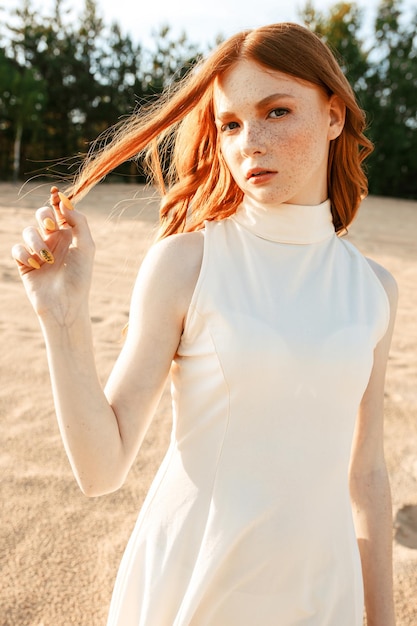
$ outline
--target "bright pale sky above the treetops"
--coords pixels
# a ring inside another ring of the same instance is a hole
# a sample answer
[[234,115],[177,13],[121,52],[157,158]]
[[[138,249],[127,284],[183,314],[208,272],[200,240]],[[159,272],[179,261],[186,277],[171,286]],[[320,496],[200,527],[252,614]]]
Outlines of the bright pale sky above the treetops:
[[[338,0],[313,0],[318,10],[326,11]],[[20,0],[0,0],[7,11],[19,6]],[[32,0],[31,7],[42,7],[42,15],[53,13],[54,0]],[[187,39],[200,49],[213,44],[216,36],[225,37],[245,28],[283,21],[299,21],[298,12],[306,0],[97,0],[99,15],[106,25],[116,21],[135,42],[149,47],[152,33],[168,24],[172,34],[185,31]],[[372,24],[379,0],[357,0],[364,8],[366,24]],[[62,0],[70,15],[81,13],[84,0]],[[405,8],[416,6],[416,0],[403,0]],[[2,21],[2,14],[0,13]]]

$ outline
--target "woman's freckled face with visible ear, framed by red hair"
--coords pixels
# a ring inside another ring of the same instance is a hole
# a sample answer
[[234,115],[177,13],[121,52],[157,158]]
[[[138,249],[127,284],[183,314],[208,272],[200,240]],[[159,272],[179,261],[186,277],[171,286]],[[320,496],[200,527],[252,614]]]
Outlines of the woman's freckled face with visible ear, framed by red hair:
[[214,108],[221,152],[247,196],[271,206],[327,199],[329,144],[344,123],[336,96],[241,60],[216,81]]

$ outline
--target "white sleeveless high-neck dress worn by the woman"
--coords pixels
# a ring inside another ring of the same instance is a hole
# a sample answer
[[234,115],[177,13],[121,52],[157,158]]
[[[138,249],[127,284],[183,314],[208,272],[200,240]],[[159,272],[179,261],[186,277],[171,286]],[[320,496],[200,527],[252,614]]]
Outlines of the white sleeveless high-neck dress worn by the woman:
[[108,626],[362,626],[348,465],[389,303],[330,202],[209,222]]

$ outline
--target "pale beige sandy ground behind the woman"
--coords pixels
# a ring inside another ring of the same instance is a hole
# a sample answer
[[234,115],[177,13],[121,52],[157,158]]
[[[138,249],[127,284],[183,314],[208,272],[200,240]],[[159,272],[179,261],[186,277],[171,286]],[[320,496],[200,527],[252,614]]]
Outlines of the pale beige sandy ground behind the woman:
[[[0,185],[0,626],[104,626],[123,549],[168,445],[170,400],[166,392],[123,488],[102,498],[83,496],[54,418],[38,322],[10,258],[47,196],[48,185]],[[93,191],[80,208],[97,244],[91,315],[104,381],[121,347],[157,204],[149,189],[113,184]],[[109,221],[120,210],[124,215]],[[417,624],[416,235],[416,202],[376,197],[363,203],[349,234],[395,275],[400,289],[386,385],[398,626]]]

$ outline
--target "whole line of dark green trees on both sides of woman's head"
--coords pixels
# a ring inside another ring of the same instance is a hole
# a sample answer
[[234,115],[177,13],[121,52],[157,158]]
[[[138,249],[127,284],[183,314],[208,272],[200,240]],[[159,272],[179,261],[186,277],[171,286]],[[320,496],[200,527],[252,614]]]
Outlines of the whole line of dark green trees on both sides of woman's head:
[[[95,0],[76,19],[63,0],[49,17],[30,5],[0,23],[0,180],[71,176],[91,141],[207,52],[169,26],[148,50],[106,25]],[[417,198],[417,10],[405,16],[400,0],[382,0],[366,33],[353,2],[320,12],[308,1],[299,17],[332,47],[367,112],[371,193]],[[114,176],[144,180],[140,163]]]

